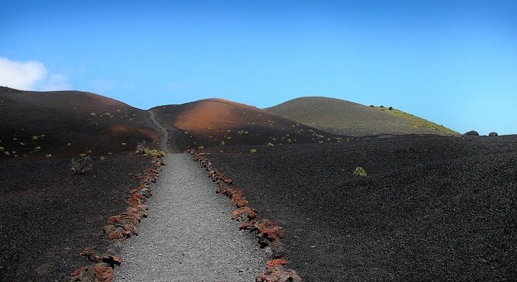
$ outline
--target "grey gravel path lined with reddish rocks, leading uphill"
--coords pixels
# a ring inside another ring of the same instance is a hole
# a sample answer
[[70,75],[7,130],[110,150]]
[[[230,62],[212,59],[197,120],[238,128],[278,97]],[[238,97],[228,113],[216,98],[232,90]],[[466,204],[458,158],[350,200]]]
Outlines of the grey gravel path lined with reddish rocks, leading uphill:
[[114,281],[254,281],[265,260],[253,235],[230,219],[232,205],[190,156],[164,161],[149,217],[124,245]]

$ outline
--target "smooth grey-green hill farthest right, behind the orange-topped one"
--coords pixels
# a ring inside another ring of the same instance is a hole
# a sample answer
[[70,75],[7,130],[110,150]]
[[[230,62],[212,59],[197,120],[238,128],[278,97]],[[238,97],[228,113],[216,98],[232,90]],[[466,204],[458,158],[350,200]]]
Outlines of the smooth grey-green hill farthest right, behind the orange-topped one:
[[403,111],[326,97],[301,97],[266,110],[320,130],[349,136],[411,133],[458,135],[442,125]]

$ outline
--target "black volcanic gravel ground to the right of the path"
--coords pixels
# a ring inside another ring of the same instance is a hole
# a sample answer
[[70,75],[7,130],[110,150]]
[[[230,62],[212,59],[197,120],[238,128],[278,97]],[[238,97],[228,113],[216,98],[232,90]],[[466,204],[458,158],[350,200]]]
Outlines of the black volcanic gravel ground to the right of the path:
[[304,281],[517,280],[517,135],[250,148],[208,159],[285,227]]

